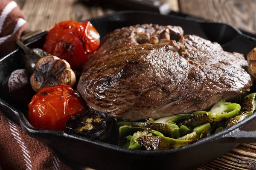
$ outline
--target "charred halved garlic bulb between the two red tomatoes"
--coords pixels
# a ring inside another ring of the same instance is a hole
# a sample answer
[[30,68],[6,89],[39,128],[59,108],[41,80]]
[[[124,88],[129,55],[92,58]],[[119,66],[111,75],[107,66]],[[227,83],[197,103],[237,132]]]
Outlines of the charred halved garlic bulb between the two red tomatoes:
[[73,87],[76,83],[76,75],[70,68],[70,64],[56,56],[49,55],[39,59],[35,70],[30,77],[30,84],[35,92],[61,84]]

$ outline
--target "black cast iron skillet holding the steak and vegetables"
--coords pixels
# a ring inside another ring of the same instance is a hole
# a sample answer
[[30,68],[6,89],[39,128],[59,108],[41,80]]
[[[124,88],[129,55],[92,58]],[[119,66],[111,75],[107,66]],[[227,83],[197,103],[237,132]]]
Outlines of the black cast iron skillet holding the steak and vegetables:
[[[157,13],[125,11],[90,20],[104,37],[110,31],[124,26],[143,23],[181,26],[185,34],[196,34],[218,42],[226,51],[244,54],[256,47],[256,39],[248,37],[223,23],[208,23],[181,17],[163,16]],[[30,48],[41,48],[47,32],[27,41]],[[15,50],[0,59],[0,82],[18,68],[23,68],[22,52]],[[252,89],[251,92],[254,92]],[[173,169],[190,170],[212,161],[239,143],[256,142],[256,114],[224,130],[193,144],[163,151],[129,150],[113,144],[97,142],[60,131],[34,129],[26,119],[26,109],[0,95],[0,110],[20,125],[29,136],[48,144],[70,167],[102,169]],[[4,99],[4,100],[3,100]],[[7,103],[8,102],[8,103]],[[23,111],[23,113],[21,112]],[[25,116],[24,116],[25,115]]]

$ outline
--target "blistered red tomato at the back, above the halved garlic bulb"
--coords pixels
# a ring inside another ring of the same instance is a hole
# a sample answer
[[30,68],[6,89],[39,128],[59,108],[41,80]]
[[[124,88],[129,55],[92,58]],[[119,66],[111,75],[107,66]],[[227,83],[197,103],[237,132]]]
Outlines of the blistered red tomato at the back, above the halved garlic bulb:
[[86,21],[63,21],[50,29],[44,51],[65,59],[71,67],[83,65],[90,54],[99,48],[99,33]]

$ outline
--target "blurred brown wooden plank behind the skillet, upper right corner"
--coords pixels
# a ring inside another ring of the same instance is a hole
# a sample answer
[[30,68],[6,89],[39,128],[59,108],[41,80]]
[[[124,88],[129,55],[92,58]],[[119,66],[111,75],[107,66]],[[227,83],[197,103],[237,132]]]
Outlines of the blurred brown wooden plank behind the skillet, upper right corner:
[[179,0],[180,11],[256,33],[256,0]]

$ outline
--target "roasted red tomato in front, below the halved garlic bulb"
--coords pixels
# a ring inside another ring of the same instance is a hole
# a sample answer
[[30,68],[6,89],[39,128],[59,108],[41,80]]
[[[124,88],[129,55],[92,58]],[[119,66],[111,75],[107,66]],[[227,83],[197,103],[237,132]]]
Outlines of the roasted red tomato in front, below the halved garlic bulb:
[[72,115],[83,113],[83,101],[69,85],[43,88],[33,96],[29,107],[29,119],[33,127],[47,130],[65,130]]

